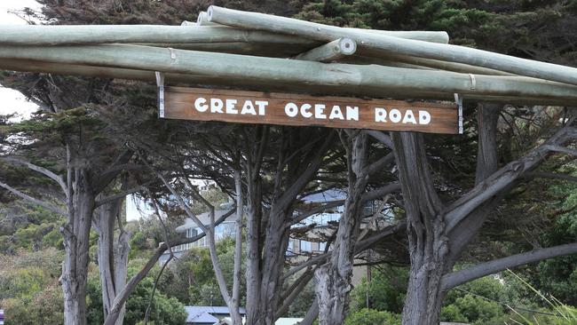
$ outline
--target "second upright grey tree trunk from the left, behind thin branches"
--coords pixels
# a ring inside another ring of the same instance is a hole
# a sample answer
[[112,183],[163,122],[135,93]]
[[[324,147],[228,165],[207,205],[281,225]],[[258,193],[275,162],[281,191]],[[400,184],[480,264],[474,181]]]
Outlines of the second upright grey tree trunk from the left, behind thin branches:
[[[126,285],[130,234],[122,227],[115,244],[115,221],[122,202],[121,199],[102,205],[94,219],[95,228],[99,233],[98,262],[105,319],[114,305],[115,297]],[[124,307],[115,324],[122,325],[123,318]]]

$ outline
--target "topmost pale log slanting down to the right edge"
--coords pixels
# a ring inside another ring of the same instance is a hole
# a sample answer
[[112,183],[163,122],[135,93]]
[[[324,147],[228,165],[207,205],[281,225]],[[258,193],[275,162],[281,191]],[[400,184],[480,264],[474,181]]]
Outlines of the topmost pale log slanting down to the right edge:
[[341,37],[355,40],[361,49],[369,49],[383,55],[408,55],[425,59],[439,59],[486,67],[526,75],[559,83],[577,84],[577,68],[552,63],[521,59],[505,54],[487,52],[469,47],[399,39],[388,35],[353,31],[345,28],[313,22],[277,17],[257,12],[240,12],[212,5],[208,10],[209,20],[237,28],[265,30],[292,36],[309,37],[330,42]]

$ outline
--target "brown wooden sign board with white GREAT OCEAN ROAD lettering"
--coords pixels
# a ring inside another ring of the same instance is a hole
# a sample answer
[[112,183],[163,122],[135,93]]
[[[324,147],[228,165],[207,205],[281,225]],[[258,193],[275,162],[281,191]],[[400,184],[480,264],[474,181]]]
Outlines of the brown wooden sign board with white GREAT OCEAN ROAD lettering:
[[455,104],[161,87],[160,117],[194,121],[460,133]]

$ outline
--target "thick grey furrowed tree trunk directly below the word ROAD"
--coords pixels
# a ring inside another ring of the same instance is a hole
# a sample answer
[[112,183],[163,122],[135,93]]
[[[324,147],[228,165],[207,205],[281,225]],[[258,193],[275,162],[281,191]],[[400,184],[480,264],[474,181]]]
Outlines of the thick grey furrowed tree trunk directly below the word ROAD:
[[408,132],[391,136],[407,213],[411,260],[402,321],[403,325],[437,325],[443,300],[441,277],[452,266],[447,262],[442,203],[433,186],[423,136]]

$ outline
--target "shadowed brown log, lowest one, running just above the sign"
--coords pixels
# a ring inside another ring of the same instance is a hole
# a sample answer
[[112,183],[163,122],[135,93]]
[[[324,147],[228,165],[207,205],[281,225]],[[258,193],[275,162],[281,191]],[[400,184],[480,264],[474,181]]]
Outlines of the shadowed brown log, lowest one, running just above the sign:
[[[0,60],[0,70],[51,73],[55,75],[81,75],[100,78],[114,78],[125,80],[136,80],[144,82],[155,82],[154,71],[137,70],[118,67],[97,67],[84,66],[67,63],[53,63],[37,60],[25,59],[2,59]],[[165,73],[167,83],[198,86],[212,86],[217,88],[233,88],[253,91],[294,91],[297,93],[313,95],[336,95],[336,96],[361,96],[372,98],[392,98],[392,99],[441,99],[452,100],[453,94],[443,92],[403,92],[396,91],[390,94],[376,94],[375,91],[366,88],[340,88],[329,86],[317,86],[307,84],[295,84],[288,87],[279,83],[263,83],[254,79],[244,77],[220,78],[217,75],[192,75]],[[483,94],[468,94],[464,100],[485,100],[499,103],[516,105],[549,105],[549,106],[577,106],[577,100],[573,99],[544,99],[534,97],[506,97],[506,96],[486,96]]]

